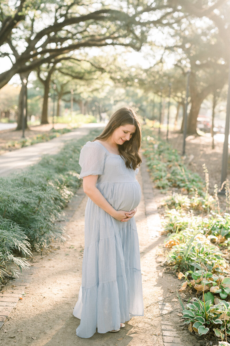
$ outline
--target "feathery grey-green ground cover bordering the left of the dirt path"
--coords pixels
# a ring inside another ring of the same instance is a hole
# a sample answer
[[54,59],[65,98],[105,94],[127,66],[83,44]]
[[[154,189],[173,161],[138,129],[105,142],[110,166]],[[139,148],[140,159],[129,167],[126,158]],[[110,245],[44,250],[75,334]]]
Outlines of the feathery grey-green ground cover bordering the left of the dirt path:
[[[31,250],[41,251],[66,235],[58,220],[79,188],[79,154],[100,130],[71,140],[56,155],[47,155],[26,171],[0,178],[0,281],[10,265],[27,268]],[[14,271],[16,274],[17,271]]]

